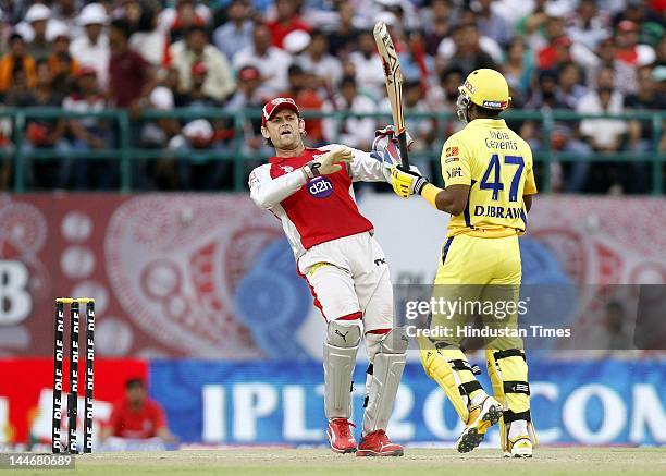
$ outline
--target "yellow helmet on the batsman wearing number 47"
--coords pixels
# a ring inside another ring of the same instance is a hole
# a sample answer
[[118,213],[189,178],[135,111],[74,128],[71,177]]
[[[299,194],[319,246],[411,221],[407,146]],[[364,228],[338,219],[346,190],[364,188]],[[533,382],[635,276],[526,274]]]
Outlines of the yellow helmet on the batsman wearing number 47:
[[467,108],[470,102],[485,109],[504,110],[511,97],[508,83],[498,71],[483,68],[469,73],[465,83],[458,87],[458,118],[467,122]]

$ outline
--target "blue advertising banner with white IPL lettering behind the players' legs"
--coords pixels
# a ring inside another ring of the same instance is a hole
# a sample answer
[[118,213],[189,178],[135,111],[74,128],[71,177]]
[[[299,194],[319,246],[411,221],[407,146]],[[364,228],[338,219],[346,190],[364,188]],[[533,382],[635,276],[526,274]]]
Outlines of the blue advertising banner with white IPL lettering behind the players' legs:
[[[666,443],[666,361],[533,359],[530,376],[541,443]],[[354,379],[354,422],[359,427],[365,377],[359,363]],[[488,379],[481,381],[491,388]],[[155,361],[150,393],[184,442],[325,442],[318,363]],[[387,430],[391,438],[453,442],[461,429],[444,392],[418,363],[408,364]],[[497,430],[486,440],[497,444]]]

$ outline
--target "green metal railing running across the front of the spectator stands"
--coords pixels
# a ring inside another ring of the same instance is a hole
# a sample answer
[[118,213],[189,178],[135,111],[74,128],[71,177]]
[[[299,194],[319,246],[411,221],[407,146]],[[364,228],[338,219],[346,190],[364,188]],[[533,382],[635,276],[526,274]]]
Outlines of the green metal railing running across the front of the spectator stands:
[[[202,161],[202,160],[225,160],[235,163],[234,170],[234,191],[240,192],[246,190],[247,181],[247,161],[256,161],[266,159],[266,155],[261,152],[248,152],[244,149],[244,125],[247,120],[259,119],[261,111],[242,110],[242,111],[229,111],[224,109],[174,109],[171,111],[157,111],[147,110],[144,111],[139,118],[135,121],[148,121],[158,119],[178,119],[183,121],[194,120],[199,118],[206,119],[225,119],[227,120],[234,130],[233,138],[231,139],[231,147],[223,151],[203,149],[193,151],[173,151],[169,150],[169,157],[181,158],[185,160]],[[332,118],[332,119],[346,119],[348,117],[356,118],[377,118],[391,120],[391,117],[385,113],[370,113],[370,114],[353,114],[349,112],[333,112],[333,113],[320,113],[320,112],[305,112],[304,117],[309,118]],[[451,121],[454,119],[451,112],[440,113],[417,113],[407,112],[407,119],[428,119],[437,121]],[[551,164],[554,161],[558,162],[571,162],[571,161],[603,161],[603,162],[650,162],[652,164],[652,193],[654,195],[661,195],[663,193],[663,163],[666,161],[666,150],[659,150],[662,144],[662,137],[664,134],[664,120],[666,119],[666,111],[633,111],[622,114],[578,114],[568,110],[553,110],[553,111],[519,111],[509,110],[503,114],[507,121],[535,121],[540,124],[541,131],[541,143],[545,145],[543,150],[534,154],[534,160],[538,163],[542,163],[542,192],[551,192],[552,190],[552,178],[551,178]],[[106,150],[91,150],[85,152],[69,151],[66,152],[70,158],[86,158],[86,159],[115,159],[120,161],[121,181],[120,191],[131,192],[132,191],[132,161],[133,160],[150,160],[165,157],[164,150],[156,149],[143,149],[137,148],[132,144],[131,130],[132,121],[126,110],[121,109],[109,109],[102,112],[86,112],[77,113],[71,111],[64,111],[62,109],[53,108],[23,108],[23,109],[3,109],[0,110],[0,119],[11,121],[12,130],[12,145],[0,148],[0,157],[4,159],[11,159],[13,161],[13,190],[16,193],[25,192],[24,183],[24,149],[22,145],[25,141],[25,125],[30,119],[77,119],[77,118],[98,118],[110,120],[115,124],[115,130],[119,133],[116,141],[118,148],[109,148]],[[552,148],[551,137],[553,135],[555,124],[557,122],[567,121],[580,121],[582,119],[620,119],[620,120],[636,120],[640,121],[643,126],[648,125],[652,127],[652,144],[649,151],[636,152],[636,151],[619,151],[614,154],[592,154],[592,155],[579,155],[579,154],[565,154],[556,151]],[[342,125],[342,121],[337,122]],[[441,130],[442,127],[440,127]],[[338,127],[340,132],[340,127]],[[440,159],[440,152],[442,144],[446,137],[435,141],[429,149],[415,152],[414,158],[422,158],[425,160],[437,161]],[[35,160],[40,159],[53,159],[62,156],[53,149],[37,149],[30,152],[30,157]]]

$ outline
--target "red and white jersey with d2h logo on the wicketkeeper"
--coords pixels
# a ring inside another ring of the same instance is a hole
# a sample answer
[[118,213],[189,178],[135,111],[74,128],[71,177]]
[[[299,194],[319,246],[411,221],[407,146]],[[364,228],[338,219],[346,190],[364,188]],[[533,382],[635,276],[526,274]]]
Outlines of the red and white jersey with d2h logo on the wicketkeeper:
[[298,259],[307,249],[372,230],[356,205],[353,182],[384,182],[382,163],[368,152],[354,150],[354,160],[341,171],[306,180],[303,166],[337,145],[306,148],[297,157],[271,157],[249,175],[250,197],[271,210]]

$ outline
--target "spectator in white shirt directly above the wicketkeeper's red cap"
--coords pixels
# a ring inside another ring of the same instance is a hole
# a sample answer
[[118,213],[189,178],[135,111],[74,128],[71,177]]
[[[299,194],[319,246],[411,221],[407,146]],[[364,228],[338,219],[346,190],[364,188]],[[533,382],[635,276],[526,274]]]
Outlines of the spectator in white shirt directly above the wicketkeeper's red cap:
[[287,69],[292,57],[271,45],[271,30],[264,24],[256,24],[252,45],[238,51],[234,57],[234,69],[255,66],[261,73],[267,88],[274,95],[288,87]]

